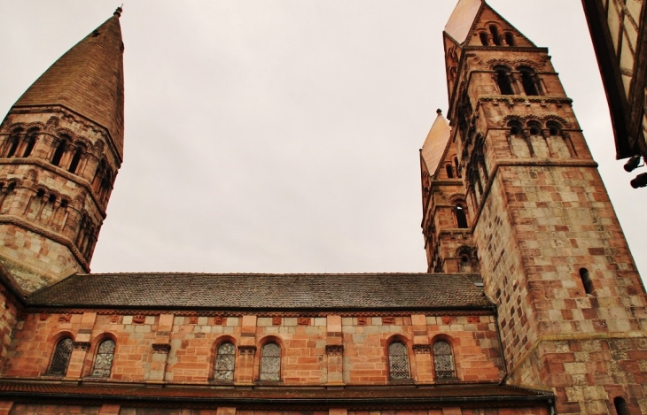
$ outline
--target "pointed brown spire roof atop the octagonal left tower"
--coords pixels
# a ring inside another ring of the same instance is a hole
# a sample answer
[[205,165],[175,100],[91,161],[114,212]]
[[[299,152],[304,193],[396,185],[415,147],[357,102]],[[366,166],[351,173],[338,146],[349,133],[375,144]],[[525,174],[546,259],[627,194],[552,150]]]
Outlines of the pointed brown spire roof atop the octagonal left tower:
[[123,158],[123,42],[113,17],[58,58],[15,107],[62,105],[105,127]]

